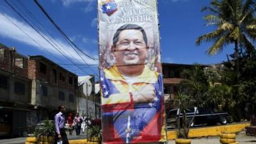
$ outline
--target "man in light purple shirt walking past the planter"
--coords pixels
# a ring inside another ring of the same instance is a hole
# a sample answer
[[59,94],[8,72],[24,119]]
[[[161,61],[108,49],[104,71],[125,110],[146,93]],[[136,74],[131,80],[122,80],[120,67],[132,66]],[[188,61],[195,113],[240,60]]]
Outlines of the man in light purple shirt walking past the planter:
[[55,128],[56,128],[56,134],[55,134],[55,144],[58,141],[62,141],[62,144],[69,144],[68,143],[68,138],[67,138],[67,134],[65,132],[65,106],[61,105],[58,106],[58,111],[59,113],[57,113],[54,116],[54,124],[55,124]]

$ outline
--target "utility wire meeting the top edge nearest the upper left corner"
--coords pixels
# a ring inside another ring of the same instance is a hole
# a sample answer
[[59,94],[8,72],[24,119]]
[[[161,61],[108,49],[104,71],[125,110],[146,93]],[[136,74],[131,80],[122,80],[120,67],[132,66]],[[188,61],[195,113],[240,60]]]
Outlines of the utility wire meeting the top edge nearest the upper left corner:
[[[34,26],[32,26],[29,22],[28,22],[28,20],[26,20],[19,12],[17,12],[17,10],[15,9],[15,8],[13,8],[13,6],[10,4],[10,3],[8,3],[6,0],[4,0],[5,1],[5,3],[7,3],[11,8],[12,8],[12,10],[14,10],[23,20],[25,20],[28,24],[29,24],[29,26],[31,26],[31,28],[33,28],[40,36],[42,36],[50,45],[52,45],[51,44],[51,42],[49,42],[49,40],[47,40],[47,38],[45,38],[45,36],[44,35],[42,35],[37,29],[35,29],[35,27]],[[58,52],[60,52],[60,54],[62,54],[67,60],[69,60],[69,61],[71,61],[71,63],[73,63],[74,65],[76,65],[76,63],[74,63],[74,61],[72,61],[72,60],[70,60],[67,56],[65,56],[65,54],[63,54],[63,52],[61,52],[57,47],[55,47],[54,45],[52,45],[52,47],[54,47],[54,49],[56,49]],[[77,66],[78,67],[78,66]],[[84,70],[82,69],[82,68],[80,68],[80,67],[78,67],[82,72],[84,72]],[[84,72],[84,73],[86,73],[86,72]],[[86,73],[87,74],[87,73]],[[87,75],[89,75],[89,74],[87,74]]]

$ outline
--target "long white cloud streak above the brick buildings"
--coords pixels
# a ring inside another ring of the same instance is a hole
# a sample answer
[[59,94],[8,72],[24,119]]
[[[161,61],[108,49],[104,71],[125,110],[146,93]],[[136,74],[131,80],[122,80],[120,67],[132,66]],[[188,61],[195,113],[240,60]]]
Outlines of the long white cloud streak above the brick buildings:
[[[13,17],[10,17],[8,15],[6,15],[6,17],[8,17],[8,19],[12,20],[12,22],[15,23],[17,26],[19,26],[20,29],[22,29],[23,31],[28,33],[29,36],[31,36],[36,42],[38,42],[38,44],[42,45],[42,47],[47,49],[47,51],[51,52],[54,55],[61,56],[61,58],[63,58],[63,56],[60,54],[60,52],[58,52],[54,47],[52,47],[51,44],[49,44],[46,40],[44,40],[44,38],[42,38],[42,36],[40,36],[38,33],[36,33],[36,31],[34,29],[32,29],[30,26],[28,26],[27,24],[24,24],[23,22],[20,22],[17,19],[14,19]],[[17,40],[24,44],[32,45],[40,51],[45,51],[42,47],[40,47],[40,45],[36,44],[33,40],[31,40],[31,38],[29,38],[22,31],[20,31],[19,28],[14,26],[8,19],[6,19],[6,17],[4,17],[3,15],[0,15],[0,36],[6,37],[6,38],[11,38],[13,40]],[[44,34],[42,33],[42,35],[44,35]],[[47,37],[47,36],[45,36],[45,37]],[[83,60],[81,60],[81,58],[72,49],[72,47],[70,45],[68,45],[66,42],[63,42],[63,40],[60,40],[57,38],[54,38],[54,39],[55,39],[55,41],[56,41],[55,43],[58,45],[58,47],[60,47],[60,49],[63,50],[63,52],[65,53],[65,56],[67,56],[68,58],[75,61],[75,63],[83,63]],[[89,52],[86,52],[86,53],[89,53]],[[83,54],[81,56],[83,56],[83,59],[88,64],[97,64],[98,63],[97,60],[94,61],[90,58],[87,58]],[[97,55],[93,55],[93,57],[97,58]]]

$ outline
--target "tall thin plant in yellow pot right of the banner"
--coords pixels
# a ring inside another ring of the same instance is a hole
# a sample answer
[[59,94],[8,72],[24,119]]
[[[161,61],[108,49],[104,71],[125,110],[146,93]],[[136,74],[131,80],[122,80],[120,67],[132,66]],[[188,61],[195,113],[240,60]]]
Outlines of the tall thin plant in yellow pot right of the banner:
[[190,144],[191,140],[188,139],[189,129],[191,124],[194,122],[195,114],[191,119],[188,119],[186,111],[189,106],[190,97],[184,93],[177,93],[177,99],[175,102],[178,103],[178,115],[177,115],[177,139],[175,140],[176,144]]

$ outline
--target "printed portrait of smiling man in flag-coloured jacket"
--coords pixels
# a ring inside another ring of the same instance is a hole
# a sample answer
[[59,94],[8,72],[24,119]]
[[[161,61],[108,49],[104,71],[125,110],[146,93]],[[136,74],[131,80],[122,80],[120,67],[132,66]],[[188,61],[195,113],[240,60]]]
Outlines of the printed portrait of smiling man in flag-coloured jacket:
[[115,31],[115,64],[100,72],[104,142],[165,140],[162,75],[148,68],[149,49],[141,26],[124,24]]

